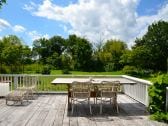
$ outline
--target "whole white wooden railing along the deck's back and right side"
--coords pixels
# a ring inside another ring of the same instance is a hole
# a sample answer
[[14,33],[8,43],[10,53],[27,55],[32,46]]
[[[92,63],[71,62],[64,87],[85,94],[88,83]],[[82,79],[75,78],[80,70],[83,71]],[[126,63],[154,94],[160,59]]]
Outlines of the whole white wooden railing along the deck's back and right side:
[[66,90],[66,85],[55,86],[51,84],[57,77],[112,77],[112,78],[125,78],[134,81],[136,84],[123,85],[123,92],[132,97],[133,99],[141,102],[148,106],[149,96],[148,87],[151,82],[142,80],[135,77],[126,75],[30,75],[30,74],[0,74],[0,82],[9,82],[10,90],[16,89],[17,87],[27,86],[36,84],[38,91],[58,91]]

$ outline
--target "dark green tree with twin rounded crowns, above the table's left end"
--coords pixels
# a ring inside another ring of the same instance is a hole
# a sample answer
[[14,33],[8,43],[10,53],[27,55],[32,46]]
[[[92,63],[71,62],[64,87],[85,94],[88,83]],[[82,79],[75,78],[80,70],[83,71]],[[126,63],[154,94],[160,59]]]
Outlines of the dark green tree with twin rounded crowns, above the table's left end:
[[40,38],[33,42],[33,55],[39,57],[43,64],[54,68],[61,68],[61,54],[65,50],[65,39],[60,36],[53,36],[49,40]]

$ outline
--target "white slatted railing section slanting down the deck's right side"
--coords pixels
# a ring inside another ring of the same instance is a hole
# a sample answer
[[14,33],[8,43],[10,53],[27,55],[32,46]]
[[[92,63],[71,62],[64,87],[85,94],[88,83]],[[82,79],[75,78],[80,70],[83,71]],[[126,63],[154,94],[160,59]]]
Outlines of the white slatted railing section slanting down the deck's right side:
[[141,102],[145,106],[149,104],[148,87],[152,84],[150,81],[123,75],[123,78],[136,82],[133,85],[124,85],[124,93],[133,99]]

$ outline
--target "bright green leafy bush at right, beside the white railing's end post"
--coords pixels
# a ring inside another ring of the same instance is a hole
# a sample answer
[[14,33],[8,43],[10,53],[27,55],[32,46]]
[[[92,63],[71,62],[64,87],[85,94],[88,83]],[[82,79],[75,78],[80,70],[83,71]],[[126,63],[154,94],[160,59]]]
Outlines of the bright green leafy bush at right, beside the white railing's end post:
[[166,87],[168,87],[168,74],[160,75],[157,77],[152,86],[149,87],[149,112],[152,115],[152,118],[157,119],[158,121],[168,121],[168,118],[165,118],[165,107],[166,107]]

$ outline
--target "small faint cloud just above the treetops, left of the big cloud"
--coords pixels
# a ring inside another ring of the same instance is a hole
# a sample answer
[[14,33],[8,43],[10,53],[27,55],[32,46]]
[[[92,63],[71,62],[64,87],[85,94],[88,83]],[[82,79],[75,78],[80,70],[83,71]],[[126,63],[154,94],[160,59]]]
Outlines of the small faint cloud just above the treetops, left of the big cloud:
[[42,35],[40,33],[38,33],[37,31],[30,31],[27,32],[27,35],[31,38],[32,41],[39,39],[39,38],[49,38],[48,34]]

